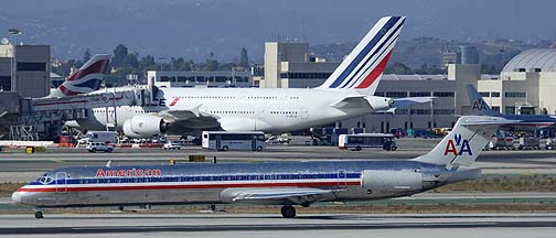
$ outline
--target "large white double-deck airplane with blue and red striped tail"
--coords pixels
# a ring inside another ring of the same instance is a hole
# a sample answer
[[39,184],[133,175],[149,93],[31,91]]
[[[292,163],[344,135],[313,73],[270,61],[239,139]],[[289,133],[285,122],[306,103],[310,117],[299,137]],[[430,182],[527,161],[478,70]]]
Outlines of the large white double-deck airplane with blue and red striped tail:
[[[426,102],[431,98],[392,99],[373,96],[404,22],[405,17],[378,20],[332,75],[317,88],[154,87],[151,106],[121,106],[116,108],[116,113],[114,109],[108,109],[108,117],[106,108],[95,108],[86,120],[66,125],[88,130],[104,130],[111,125],[129,138],[149,138],[165,132],[201,134],[203,130],[281,133],[392,107]],[[92,87],[97,84],[86,85],[81,80],[66,83],[63,86],[68,90],[58,90],[64,95],[98,89]]]

